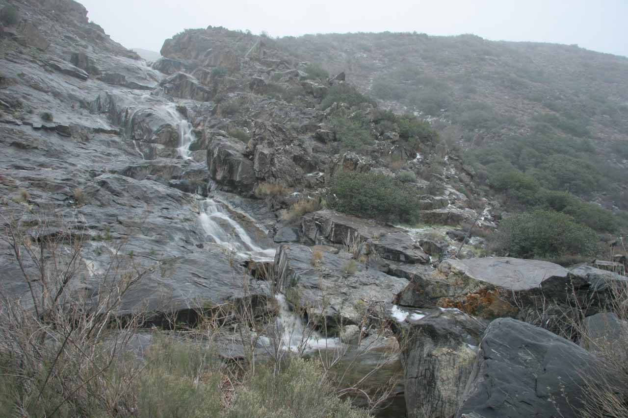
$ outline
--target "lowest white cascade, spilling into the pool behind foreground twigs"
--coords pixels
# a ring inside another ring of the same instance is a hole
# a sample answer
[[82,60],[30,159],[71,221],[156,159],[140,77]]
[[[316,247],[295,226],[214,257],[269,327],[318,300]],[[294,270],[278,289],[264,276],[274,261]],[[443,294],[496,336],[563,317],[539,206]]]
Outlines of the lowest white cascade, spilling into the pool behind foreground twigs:
[[290,310],[283,294],[276,294],[275,299],[279,305],[277,328],[281,331],[281,346],[284,350],[306,353],[340,345],[339,338],[325,338],[317,331],[305,326],[303,319]]

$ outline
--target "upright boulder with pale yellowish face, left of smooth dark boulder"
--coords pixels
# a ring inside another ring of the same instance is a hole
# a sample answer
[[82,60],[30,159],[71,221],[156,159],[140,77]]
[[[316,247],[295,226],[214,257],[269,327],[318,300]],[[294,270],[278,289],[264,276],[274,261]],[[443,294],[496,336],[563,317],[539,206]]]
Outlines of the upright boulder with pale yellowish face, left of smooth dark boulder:
[[450,417],[462,402],[487,323],[457,309],[437,309],[409,322],[394,323],[408,418]]

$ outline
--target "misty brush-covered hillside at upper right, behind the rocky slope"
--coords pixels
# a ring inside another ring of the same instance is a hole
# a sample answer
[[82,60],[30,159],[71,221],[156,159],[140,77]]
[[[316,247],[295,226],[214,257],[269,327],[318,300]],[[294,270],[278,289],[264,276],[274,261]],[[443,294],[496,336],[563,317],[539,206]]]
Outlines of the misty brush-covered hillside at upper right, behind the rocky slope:
[[482,150],[465,153],[481,181],[514,172],[588,199],[605,191],[595,197],[607,208],[628,206],[620,187],[628,58],[474,35],[330,34],[277,43],[330,72],[347,71],[382,107],[420,112],[450,143]]

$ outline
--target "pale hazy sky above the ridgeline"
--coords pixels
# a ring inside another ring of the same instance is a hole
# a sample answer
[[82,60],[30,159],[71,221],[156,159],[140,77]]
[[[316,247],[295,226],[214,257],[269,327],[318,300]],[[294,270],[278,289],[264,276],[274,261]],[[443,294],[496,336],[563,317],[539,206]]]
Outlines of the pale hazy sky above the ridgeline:
[[271,36],[329,32],[473,33],[489,40],[577,43],[628,56],[628,0],[78,0],[127,48],[159,51],[185,28]]

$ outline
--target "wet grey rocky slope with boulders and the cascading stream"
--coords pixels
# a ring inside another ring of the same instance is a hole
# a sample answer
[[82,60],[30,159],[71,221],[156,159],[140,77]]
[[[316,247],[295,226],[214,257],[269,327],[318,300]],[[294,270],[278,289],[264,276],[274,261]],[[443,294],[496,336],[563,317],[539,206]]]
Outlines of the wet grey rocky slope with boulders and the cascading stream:
[[[97,299],[118,255],[147,269],[118,314],[150,312],[150,324],[166,326],[167,313],[193,323],[199,306],[243,299],[273,312],[277,292],[308,326],[344,344],[352,333],[376,338],[373,323],[384,323],[384,335],[396,333],[401,344],[398,392],[406,388],[410,417],[546,414],[548,395],[562,393],[553,375],[524,370],[522,350],[495,366],[493,347],[538,346],[529,364],[549,362],[574,377],[568,360],[583,350],[530,323],[551,328],[552,313],[572,297],[594,302],[587,314],[602,311],[611,284],[625,277],[474,258],[484,240],[462,226],[495,228],[500,205],[481,193],[471,200],[472,169],[430,142],[411,146],[399,126],[381,128],[368,100],[325,104],[333,89],[365,82],[353,67],[327,77],[281,42],[211,27],[166,40],[163,58],[148,67],[72,0],[11,4],[19,20],[0,39],[0,215],[35,242],[41,225],[63,243],[80,235],[83,270],[73,285],[88,299]],[[338,114],[359,116],[372,141],[347,150],[333,125]],[[409,183],[427,225],[322,207],[334,173],[399,177],[402,168],[425,173]],[[37,266],[25,260],[24,268]],[[3,240],[4,296],[28,291],[20,270]],[[237,356],[242,347],[229,350]],[[559,351],[573,356],[558,359]],[[506,394],[490,391],[519,376]],[[547,393],[534,392],[539,380]],[[512,406],[519,390],[526,400]],[[565,416],[573,407],[556,406]]]

